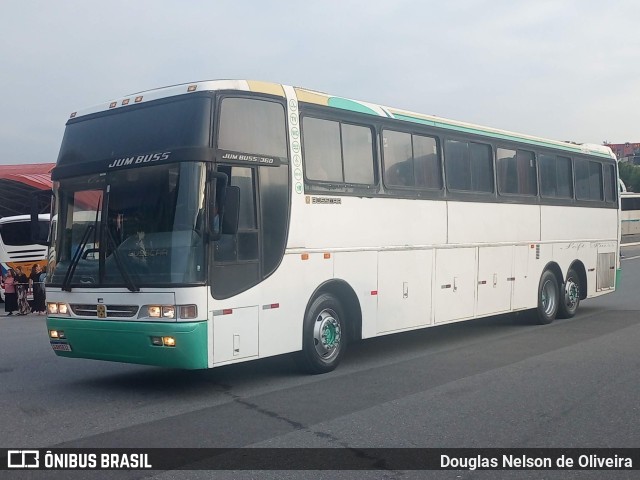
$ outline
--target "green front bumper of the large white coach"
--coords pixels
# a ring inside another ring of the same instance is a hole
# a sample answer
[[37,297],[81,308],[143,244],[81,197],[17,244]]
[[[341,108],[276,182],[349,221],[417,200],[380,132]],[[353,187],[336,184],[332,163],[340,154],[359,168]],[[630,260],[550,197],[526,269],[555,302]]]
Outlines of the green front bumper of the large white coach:
[[[47,318],[56,355],[171,368],[208,367],[207,322]],[[55,333],[53,333],[55,332]]]

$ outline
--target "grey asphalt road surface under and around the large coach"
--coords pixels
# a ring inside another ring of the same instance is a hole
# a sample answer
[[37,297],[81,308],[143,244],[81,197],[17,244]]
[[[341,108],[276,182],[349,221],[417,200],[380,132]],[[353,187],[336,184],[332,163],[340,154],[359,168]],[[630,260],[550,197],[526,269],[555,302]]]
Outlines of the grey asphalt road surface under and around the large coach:
[[[44,317],[0,317],[0,446],[637,448],[640,247],[623,253],[618,291],[583,302],[573,319],[539,326],[507,315],[372,339],[350,345],[341,366],[320,376],[299,373],[291,356],[196,372],[58,358]],[[600,479],[637,472],[90,476]]]

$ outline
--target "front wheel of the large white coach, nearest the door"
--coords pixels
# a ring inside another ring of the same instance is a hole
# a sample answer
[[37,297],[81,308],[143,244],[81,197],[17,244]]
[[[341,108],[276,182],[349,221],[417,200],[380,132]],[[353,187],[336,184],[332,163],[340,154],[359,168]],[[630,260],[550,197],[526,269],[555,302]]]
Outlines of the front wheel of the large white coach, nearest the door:
[[302,356],[310,373],[330,372],[338,366],[347,346],[340,302],[323,293],[309,306],[304,320]]

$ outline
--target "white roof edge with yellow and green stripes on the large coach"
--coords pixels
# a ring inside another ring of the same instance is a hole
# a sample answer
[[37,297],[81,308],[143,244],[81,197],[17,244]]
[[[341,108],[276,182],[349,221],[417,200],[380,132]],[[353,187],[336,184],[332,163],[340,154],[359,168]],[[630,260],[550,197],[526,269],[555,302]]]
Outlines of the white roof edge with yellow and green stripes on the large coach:
[[[177,95],[184,95],[193,92],[202,91],[217,91],[217,90],[241,90],[249,92],[267,93],[270,95],[276,95],[280,97],[285,96],[285,87],[277,83],[262,82],[256,80],[207,80],[194,83],[184,83],[180,85],[173,85],[169,87],[157,88],[153,90],[147,90],[144,92],[133,93],[121,98],[110,100],[93,107],[73,112],[71,119],[77,118],[83,115],[92,113],[98,113],[117,108],[126,108],[129,105],[136,105],[140,103],[149,102],[152,100],[158,100],[161,98],[168,98]],[[396,120],[403,120],[412,123],[418,123],[422,125],[429,125],[433,127],[443,128],[452,131],[473,133],[477,135],[483,135],[487,137],[524,142],[531,145],[559,148],[572,153],[584,153],[591,154],[600,157],[608,157],[616,159],[613,151],[605,146],[589,143],[573,143],[563,142],[558,140],[550,140],[532,135],[526,135],[522,133],[516,133],[509,130],[501,130],[498,128],[486,127],[475,125],[472,123],[460,122],[457,120],[445,119],[434,115],[425,115],[422,113],[411,112],[408,110],[401,110],[392,107],[385,107],[369,102],[363,102],[358,100],[352,100],[348,98],[338,97],[323,92],[309,90],[300,87],[294,88],[296,96],[300,102],[312,103],[316,105],[323,105],[332,108],[338,108],[343,110],[349,110],[358,113],[365,113],[369,115],[376,115],[385,118],[393,118]]]

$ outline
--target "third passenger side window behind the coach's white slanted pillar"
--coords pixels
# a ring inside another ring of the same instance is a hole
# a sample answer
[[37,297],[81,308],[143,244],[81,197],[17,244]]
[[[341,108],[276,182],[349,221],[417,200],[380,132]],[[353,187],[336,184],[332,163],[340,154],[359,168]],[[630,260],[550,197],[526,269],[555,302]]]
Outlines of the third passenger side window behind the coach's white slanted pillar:
[[491,147],[482,143],[445,142],[445,168],[450,190],[493,192]]

